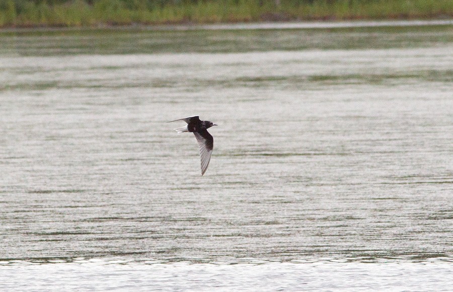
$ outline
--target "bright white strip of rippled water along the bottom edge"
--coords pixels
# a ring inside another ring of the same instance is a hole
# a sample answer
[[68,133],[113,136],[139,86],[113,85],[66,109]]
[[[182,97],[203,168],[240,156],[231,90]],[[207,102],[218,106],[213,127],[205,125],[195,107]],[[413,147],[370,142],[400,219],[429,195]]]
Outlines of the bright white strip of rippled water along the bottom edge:
[[[14,273],[14,277],[6,277]],[[39,277],[36,277],[39,275]],[[359,275],[359,276],[358,276]],[[0,265],[0,280],[10,290],[450,290],[453,265],[426,263],[308,262],[266,264],[160,264],[77,260],[77,263]]]

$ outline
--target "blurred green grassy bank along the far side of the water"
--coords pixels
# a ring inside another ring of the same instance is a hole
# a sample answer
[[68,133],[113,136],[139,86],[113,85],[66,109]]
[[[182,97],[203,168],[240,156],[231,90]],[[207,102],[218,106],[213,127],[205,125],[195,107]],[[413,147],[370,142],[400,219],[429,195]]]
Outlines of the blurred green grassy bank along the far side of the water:
[[451,17],[451,0],[0,0],[0,27]]

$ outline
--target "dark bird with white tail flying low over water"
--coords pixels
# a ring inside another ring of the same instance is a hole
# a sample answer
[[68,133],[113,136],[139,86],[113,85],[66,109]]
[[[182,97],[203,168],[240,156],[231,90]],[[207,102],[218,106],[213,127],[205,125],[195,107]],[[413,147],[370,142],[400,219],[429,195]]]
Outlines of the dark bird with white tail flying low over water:
[[187,123],[184,127],[174,129],[178,134],[181,134],[182,132],[192,132],[194,133],[195,138],[197,138],[198,146],[200,147],[201,175],[203,175],[211,160],[212,148],[214,147],[214,139],[211,134],[208,133],[207,129],[216,126],[216,124],[210,121],[202,121],[199,116],[169,121],[168,123],[176,121],[185,121]]

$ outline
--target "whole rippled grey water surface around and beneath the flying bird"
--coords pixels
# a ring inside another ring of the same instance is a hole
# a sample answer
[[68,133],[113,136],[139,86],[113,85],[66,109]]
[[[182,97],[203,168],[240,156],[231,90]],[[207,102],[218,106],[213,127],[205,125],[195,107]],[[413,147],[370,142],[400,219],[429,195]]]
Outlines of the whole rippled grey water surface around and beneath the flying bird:
[[[88,290],[451,282],[451,25],[0,40],[11,288],[60,271],[55,287],[78,273]],[[164,123],[193,114],[219,125],[203,177],[184,122]]]

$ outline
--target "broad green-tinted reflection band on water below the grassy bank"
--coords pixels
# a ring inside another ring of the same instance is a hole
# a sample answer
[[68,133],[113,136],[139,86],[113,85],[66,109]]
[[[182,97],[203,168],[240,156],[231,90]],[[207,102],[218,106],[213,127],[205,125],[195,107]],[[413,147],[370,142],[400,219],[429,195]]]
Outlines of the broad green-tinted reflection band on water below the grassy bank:
[[[423,26],[423,23],[437,25]],[[13,56],[73,56],[435,47],[451,43],[452,24],[453,21],[440,20],[412,23],[237,24],[229,25],[230,29],[223,25],[209,25],[202,26],[201,30],[197,27],[172,27],[176,30],[171,31],[167,30],[168,27],[151,27],[157,30],[146,27],[88,31],[19,30],[0,32],[0,53]],[[65,64],[66,69],[74,65]],[[114,69],[116,65],[106,63],[106,66]]]

